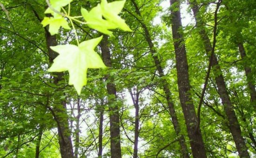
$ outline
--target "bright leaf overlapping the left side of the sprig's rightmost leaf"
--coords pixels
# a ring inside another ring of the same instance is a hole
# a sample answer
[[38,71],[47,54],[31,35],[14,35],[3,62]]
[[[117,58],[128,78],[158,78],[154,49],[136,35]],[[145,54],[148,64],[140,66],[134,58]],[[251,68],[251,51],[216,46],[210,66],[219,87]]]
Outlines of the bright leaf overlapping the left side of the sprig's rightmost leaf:
[[108,29],[115,29],[118,27],[114,23],[102,19],[101,6],[99,4],[97,7],[92,8],[90,12],[84,8],[81,8],[81,13],[84,19],[87,21],[88,27],[101,33],[113,36],[112,32]]

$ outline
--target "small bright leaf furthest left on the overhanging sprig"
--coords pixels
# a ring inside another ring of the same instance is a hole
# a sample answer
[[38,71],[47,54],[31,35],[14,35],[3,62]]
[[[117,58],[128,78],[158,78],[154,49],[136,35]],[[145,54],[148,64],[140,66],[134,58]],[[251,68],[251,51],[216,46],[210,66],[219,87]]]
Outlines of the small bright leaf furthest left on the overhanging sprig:
[[68,26],[67,20],[65,20],[61,15],[50,18],[45,17],[44,20],[42,20],[41,24],[43,25],[43,27],[49,25],[49,32],[51,33],[51,35],[57,34],[61,26],[68,30],[71,29]]

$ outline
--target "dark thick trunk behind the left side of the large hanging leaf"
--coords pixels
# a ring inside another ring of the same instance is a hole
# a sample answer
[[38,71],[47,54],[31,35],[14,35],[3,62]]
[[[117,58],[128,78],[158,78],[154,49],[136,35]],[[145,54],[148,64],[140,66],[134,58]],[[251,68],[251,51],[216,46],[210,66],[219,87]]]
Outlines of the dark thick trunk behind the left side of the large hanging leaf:
[[[58,53],[54,52],[50,46],[56,46],[56,36],[51,36],[47,29],[45,29],[46,44],[50,63],[57,57]],[[55,72],[54,84],[58,84],[62,80],[63,73]],[[54,114],[54,119],[58,125],[59,144],[61,150],[61,158],[74,158],[73,146],[71,141],[71,131],[68,125],[68,116],[66,102],[62,101],[60,105],[54,105],[51,111]]]

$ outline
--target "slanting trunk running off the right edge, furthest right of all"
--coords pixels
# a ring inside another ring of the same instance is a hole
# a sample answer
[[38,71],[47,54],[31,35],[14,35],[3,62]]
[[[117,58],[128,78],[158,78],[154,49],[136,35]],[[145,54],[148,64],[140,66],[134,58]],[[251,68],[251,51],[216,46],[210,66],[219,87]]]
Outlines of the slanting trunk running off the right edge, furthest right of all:
[[251,97],[251,104],[254,108],[254,111],[256,112],[256,90],[255,90],[255,84],[253,83],[253,76],[252,76],[252,72],[251,72],[251,68],[248,66],[248,64],[246,63],[247,61],[247,56],[245,53],[245,49],[243,47],[243,43],[238,43],[238,48],[239,48],[239,52],[241,55],[241,58],[243,60],[243,68],[245,71],[245,75],[247,78],[247,82],[248,82],[248,88],[250,91],[250,97]]

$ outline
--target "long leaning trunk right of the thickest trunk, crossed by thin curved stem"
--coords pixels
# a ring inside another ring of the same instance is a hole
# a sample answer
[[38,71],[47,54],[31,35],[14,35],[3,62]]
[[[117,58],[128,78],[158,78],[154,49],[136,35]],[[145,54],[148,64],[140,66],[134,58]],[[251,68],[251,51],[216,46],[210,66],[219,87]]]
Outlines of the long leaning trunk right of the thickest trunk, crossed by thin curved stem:
[[[212,50],[212,46],[211,46],[209,37],[204,30],[202,18],[199,15],[197,15],[197,13],[199,11],[198,5],[196,4],[195,1],[191,2],[190,4],[191,4],[191,8],[193,10],[194,16],[195,16],[196,26],[198,28],[200,28],[199,33],[203,40],[205,51],[209,55],[209,53]],[[214,68],[213,72],[215,75],[218,93],[221,97],[222,105],[224,107],[224,111],[225,111],[228,121],[229,121],[230,131],[231,131],[231,134],[235,141],[236,149],[241,158],[249,158],[249,153],[247,151],[248,149],[247,149],[247,146],[245,145],[244,139],[242,137],[241,128],[238,123],[236,113],[234,111],[234,107],[230,101],[229,93],[227,91],[224,77],[222,75],[221,67],[219,66],[218,59],[216,58],[216,54],[213,54],[212,67]]]

